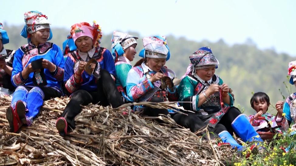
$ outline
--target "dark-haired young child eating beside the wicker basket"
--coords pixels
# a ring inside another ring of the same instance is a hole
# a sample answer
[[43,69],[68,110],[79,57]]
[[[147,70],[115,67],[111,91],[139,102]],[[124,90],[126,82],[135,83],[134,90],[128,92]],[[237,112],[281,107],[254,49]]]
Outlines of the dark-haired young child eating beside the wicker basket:
[[[269,97],[264,92],[257,92],[251,98],[251,106],[256,111],[256,114],[250,115],[250,120],[252,118],[264,117],[267,121],[269,121],[271,127],[281,126],[277,128],[277,132],[282,133],[282,131],[286,131],[288,128],[287,120],[283,117],[283,101],[278,101],[276,104],[277,115],[271,115],[270,113],[266,113],[268,107],[270,105]],[[252,125],[256,131],[261,131],[262,128],[267,127],[267,121],[263,119],[254,119],[252,120]]]

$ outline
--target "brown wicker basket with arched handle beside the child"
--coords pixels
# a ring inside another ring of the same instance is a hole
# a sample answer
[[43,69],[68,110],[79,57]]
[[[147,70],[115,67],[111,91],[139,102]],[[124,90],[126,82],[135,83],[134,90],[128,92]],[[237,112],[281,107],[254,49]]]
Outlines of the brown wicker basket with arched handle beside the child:
[[270,125],[270,123],[269,123],[269,121],[266,120],[264,117],[257,117],[257,118],[250,119],[250,123],[252,124],[252,126],[253,126],[253,121],[255,119],[265,120],[267,122],[267,124],[268,124],[267,127],[261,129],[263,131],[257,131],[257,133],[260,135],[260,137],[263,140],[269,140],[269,139],[274,138],[274,135],[276,134],[275,129],[276,128],[279,128],[280,126],[277,126],[277,127],[272,128],[271,125]]

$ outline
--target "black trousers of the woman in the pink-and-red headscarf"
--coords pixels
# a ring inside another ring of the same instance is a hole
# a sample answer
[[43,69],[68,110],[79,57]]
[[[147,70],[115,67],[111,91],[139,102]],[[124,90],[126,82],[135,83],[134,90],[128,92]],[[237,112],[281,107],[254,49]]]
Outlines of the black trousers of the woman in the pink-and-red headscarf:
[[97,80],[97,91],[77,90],[72,93],[71,100],[61,115],[66,118],[68,126],[75,128],[74,118],[81,112],[80,105],[88,105],[89,103],[102,106],[111,104],[113,108],[124,104],[122,95],[117,90],[115,82],[107,70],[101,70],[101,78]]

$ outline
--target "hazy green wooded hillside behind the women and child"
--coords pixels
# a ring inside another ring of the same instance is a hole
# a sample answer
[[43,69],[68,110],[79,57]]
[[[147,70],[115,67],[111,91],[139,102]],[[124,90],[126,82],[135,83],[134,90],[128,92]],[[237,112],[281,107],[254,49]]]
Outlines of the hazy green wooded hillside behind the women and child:
[[[10,43],[5,45],[5,48],[17,49],[26,44],[26,39],[19,35],[22,26],[4,25],[4,28],[10,38]],[[53,39],[51,42],[61,47],[70,30],[53,28],[52,31]],[[130,32],[130,34],[139,38],[142,37],[135,32]],[[111,49],[111,36],[112,34],[104,34],[103,29],[102,47]],[[171,58],[166,65],[173,69],[179,78],[184,74],[190,62],[189,55],[202,46],[210,46],[213,54],[220,62],[216,74],[233,89],[235,105],[240,104],[240,107],[244,107],[247,115],[254,113],[250,107],[252,92],[266,92],[273,105],[276,101],[283,100],[279,89],[283,91],[284,96],[288,95],[283,81],[287,82],[288,62],[295,59],[290,55],[278,54],[273,50],[260,50],[252,42],[228,45],[222,39],[218,42],[206,40],[195,42],[183,37],[176,38],[169,35],[167,36],[167,43],[170,47]],[[139,52],[142,48],[142,42],[139,40],[137,51]],[[139,57],[136,57],[135,62],[136,60],[139,60]],[[292,91],[295,91],[294,87],[292,87]],[[274,109],[270,108],[270,110],[273,110],[274,113]]]

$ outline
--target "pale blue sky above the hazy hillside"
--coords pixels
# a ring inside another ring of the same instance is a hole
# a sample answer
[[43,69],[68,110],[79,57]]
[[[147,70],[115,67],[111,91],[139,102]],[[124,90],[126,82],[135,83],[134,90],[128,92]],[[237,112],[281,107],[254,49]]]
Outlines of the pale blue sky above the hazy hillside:
[[[184,36],[201,41],[243,43],[296,55],[296,1],[287,0],[1,0],[0,22],[24,24],[26,11],[48,16],[52,27],[96,20],[103,33]],[[169,41],[168,41],[169,42]]]

